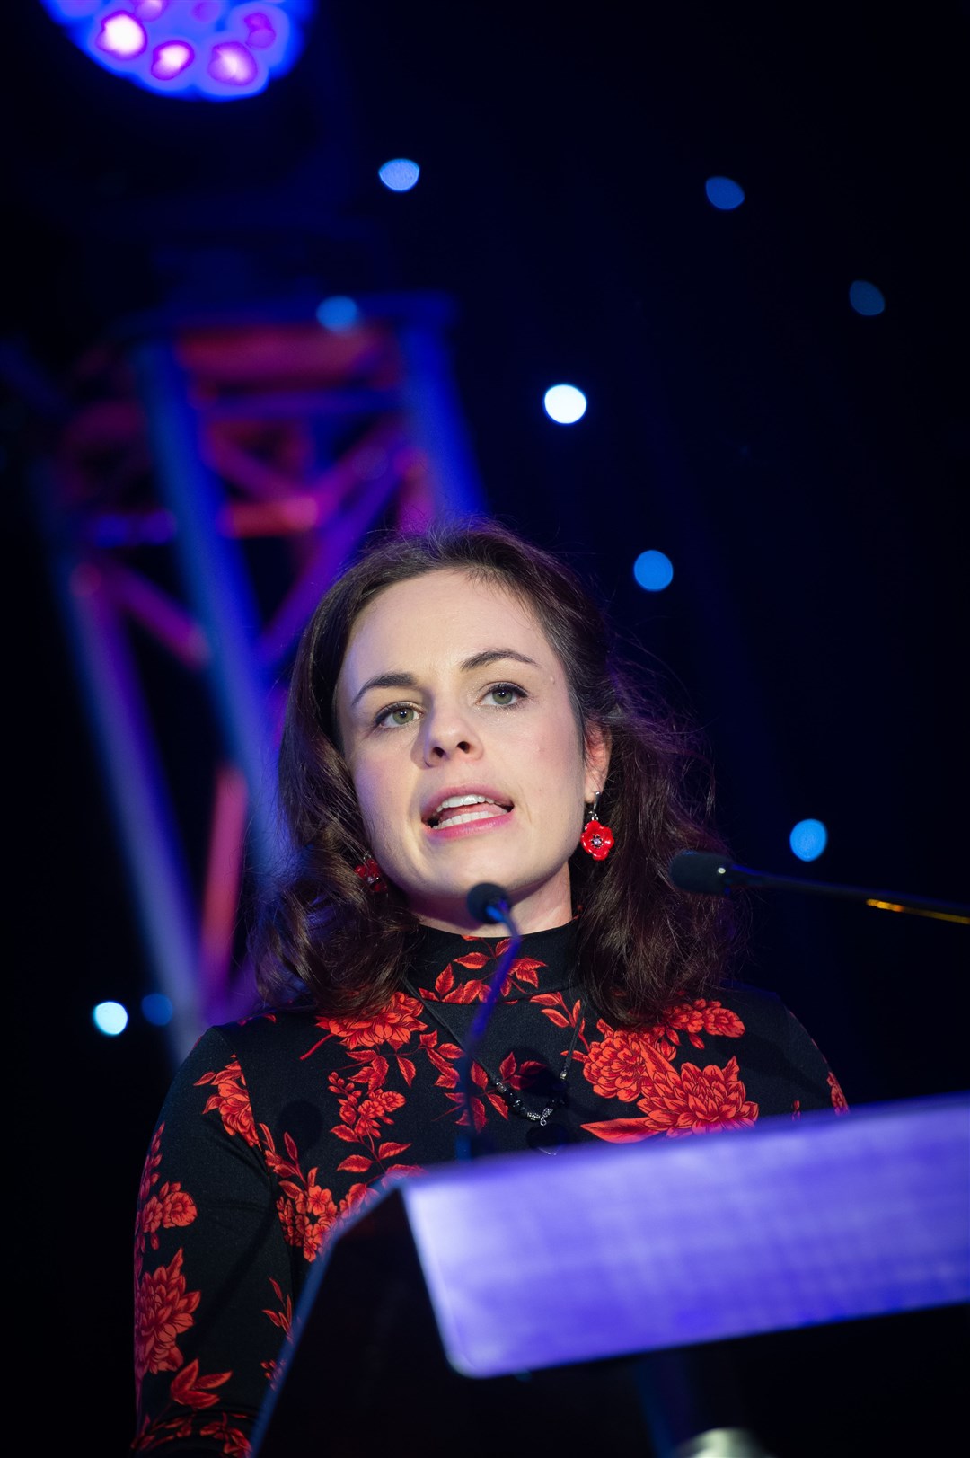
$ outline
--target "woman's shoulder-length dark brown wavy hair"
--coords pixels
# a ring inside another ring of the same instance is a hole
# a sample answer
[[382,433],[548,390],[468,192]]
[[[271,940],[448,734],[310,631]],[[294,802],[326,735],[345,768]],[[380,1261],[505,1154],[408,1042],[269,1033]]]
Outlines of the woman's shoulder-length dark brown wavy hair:
[[713,777],[696,732],[620,662],[605,614],[564,560],[481,518],[369,541],[319,601],[296,653],[279,761],[292,863],[263,898],[251,936],[260,996],[312,1002],[330,1016],[368,1012],[403,986],[419,923],[403,894],[372,894],[356,873],[366,847],[340,748],[334,695],[362,609],[379,592],[457,569],[525,604],[559,655],[576,722],[610,744],[600,814],[608,859],[579,847],[569,869],[579,977],[614,1022],[656,1018],[678,996],[709,993],[740,949],[735,907],[668,878],[678,850],[726,853],[713,824]]

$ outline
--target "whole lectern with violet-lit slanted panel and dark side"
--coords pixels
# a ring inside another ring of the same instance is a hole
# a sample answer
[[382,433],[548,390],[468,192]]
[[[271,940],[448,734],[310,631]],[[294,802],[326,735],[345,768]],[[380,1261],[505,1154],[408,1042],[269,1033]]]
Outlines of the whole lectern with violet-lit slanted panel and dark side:
[[439,1166],[315,1263],[254,1458],[646,1452],[652,1353],[713,1391],[735,1338],[969,1301],[969,1095]]

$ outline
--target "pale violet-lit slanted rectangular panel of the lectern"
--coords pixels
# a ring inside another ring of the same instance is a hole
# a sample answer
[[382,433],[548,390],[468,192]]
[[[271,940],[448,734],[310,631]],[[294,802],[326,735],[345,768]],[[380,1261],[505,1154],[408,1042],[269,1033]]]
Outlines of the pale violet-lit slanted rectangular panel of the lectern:
[[449,1363],[487,1378],[970,1299],[970,1096],[406,1181]]

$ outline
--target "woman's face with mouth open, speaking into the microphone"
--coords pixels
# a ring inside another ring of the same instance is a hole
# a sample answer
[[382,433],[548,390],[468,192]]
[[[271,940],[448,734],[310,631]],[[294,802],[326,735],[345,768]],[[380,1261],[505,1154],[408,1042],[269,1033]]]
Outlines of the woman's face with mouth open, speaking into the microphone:
[[563,665],[505,588],[451,569],[387,588],[352,630],[337,717],[366,849],[422,921],[477,930],[480,881],[524,932],[570,919],[567,860],[608,752],[583,754]]

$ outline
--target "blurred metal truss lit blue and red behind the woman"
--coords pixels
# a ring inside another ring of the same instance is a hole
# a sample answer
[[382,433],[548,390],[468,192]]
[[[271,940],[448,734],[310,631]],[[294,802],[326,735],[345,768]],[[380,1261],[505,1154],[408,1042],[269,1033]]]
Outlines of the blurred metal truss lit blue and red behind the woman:
[[252,996],[247,876],[277,857],[287,672],[375,526],[481,509],[439,296],[149,318],[80,362],[35,483],[178,1061]]

